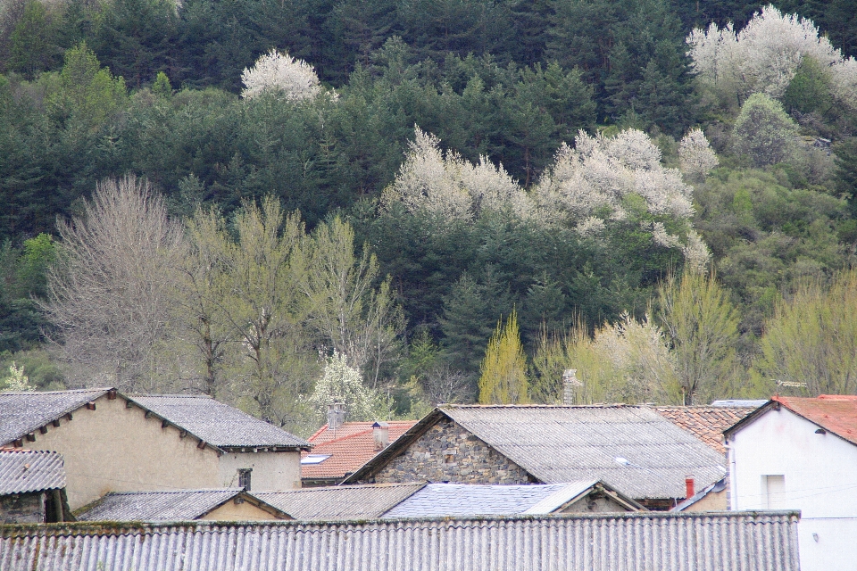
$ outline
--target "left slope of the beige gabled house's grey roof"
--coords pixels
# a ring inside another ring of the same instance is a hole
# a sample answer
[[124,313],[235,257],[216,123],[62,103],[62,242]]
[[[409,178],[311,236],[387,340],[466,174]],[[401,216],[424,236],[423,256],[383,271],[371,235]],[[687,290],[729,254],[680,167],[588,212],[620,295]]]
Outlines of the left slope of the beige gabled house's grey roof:
[[76,391],[0,393],[0,445],[11,443],[38,428],[95,401],[110,388]]

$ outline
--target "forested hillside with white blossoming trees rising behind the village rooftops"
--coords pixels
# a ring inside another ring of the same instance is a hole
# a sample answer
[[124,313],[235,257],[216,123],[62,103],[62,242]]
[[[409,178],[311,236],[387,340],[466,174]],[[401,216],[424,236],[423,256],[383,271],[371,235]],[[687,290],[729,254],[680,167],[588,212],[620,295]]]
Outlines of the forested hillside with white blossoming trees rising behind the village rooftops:
[[850,0],[5,0],[5,383],[857,393],[855,54]]

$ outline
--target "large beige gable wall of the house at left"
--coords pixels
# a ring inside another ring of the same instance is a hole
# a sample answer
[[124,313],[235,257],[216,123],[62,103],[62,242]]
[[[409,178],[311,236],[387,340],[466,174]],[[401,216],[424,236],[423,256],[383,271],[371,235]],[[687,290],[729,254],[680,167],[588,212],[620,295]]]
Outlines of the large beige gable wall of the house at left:
[[29,450],[62,454],[71,509],[107,492],[218,487],[216,451],[197,448],[196,438],[180,438],[178,428],[162,428],[159,418],[125,402],[104,395],[96,410],[75,410],[47,434],[36,431],[35,442],[24,441]]

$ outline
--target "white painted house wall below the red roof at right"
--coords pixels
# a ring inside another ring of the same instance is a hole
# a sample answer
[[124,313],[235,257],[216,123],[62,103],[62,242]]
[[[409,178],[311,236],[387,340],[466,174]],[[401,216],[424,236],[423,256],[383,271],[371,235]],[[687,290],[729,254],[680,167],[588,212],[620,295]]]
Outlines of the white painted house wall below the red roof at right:
[[800,509],[801,569],[857,570],[857,445],[780,406],[727,441],[729,506]]

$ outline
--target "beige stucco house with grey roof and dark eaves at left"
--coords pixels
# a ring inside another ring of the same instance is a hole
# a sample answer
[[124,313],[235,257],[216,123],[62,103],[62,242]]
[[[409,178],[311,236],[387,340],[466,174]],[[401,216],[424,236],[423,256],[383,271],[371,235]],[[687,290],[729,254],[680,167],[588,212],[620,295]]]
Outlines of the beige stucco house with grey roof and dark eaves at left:
[[196,395],[0,393],[0,446],[57,451],[71,509],[109,492],[301,485],[312,444]]

